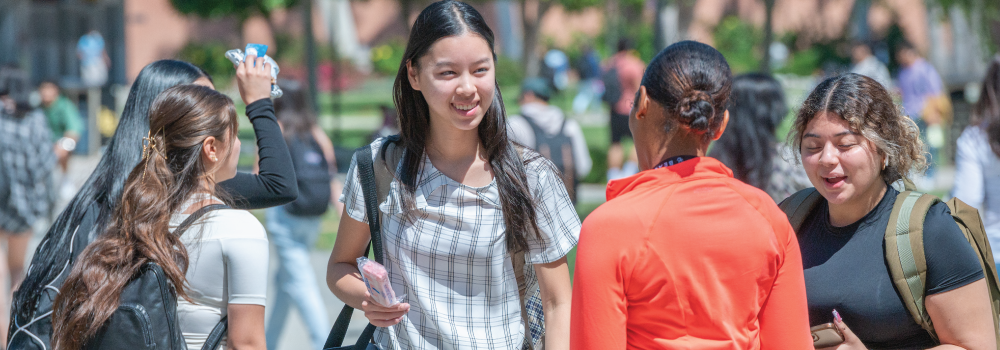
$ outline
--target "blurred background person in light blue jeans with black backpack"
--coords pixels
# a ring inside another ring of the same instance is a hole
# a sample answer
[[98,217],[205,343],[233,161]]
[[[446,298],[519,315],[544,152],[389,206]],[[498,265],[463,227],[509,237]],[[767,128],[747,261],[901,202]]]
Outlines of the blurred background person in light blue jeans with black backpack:
[[[278,290],[267,321],[267,348],[277,348],[294,305],[309,330],[312,348],[320,349],[330,332],[330,320],[309,252],[319,236],[323,214],[328,211],[331,199],[340,196],[343,186],[333,176],[337,173],[333,143],[316,124],[308,94],[298,82],[279,81],[279,85],[285,94],[274,100],[274,109],[292,156],[299,196],[291,203],[265,210],[265,226],[278,253],[274,281]],[[340,213],[343,203],[335,204]]]

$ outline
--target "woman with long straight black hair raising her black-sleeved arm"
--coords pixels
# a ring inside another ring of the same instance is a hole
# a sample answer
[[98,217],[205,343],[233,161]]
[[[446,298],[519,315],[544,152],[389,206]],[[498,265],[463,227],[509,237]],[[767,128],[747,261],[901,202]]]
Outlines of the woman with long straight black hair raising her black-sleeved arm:
[[[237,173],[219,182],[234,208],[265,208],[288,203],[297,196],[295,174],[288,148],[274,117],[270,100],[270,71],[263,59],[256,66],[237,68],[240,95],[247,103],[247,116],[254,126],[260,155],[259,175]],[[182,61],[161,60],[139,72],[125,102],[118,128],[97,168],[80,188],[39,244],[21,288],[14,295],[9,347],[50,349],[52,301],[59,293],[73,261],[87,245],[104,232],[114,208],[122,198],[128,170],[142,158],[142,139],[149,135],[149,110],[164,90],[182,84],[214,88],[211,77]]]

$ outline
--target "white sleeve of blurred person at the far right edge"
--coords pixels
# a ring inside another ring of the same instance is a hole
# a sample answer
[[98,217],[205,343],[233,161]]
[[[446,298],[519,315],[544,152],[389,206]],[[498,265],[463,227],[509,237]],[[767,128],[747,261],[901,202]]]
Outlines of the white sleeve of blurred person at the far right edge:
[[955,146],[955,187],[951,196],[983,210],[986,196],[982,154],[992,152],[977,127],[966,128]]

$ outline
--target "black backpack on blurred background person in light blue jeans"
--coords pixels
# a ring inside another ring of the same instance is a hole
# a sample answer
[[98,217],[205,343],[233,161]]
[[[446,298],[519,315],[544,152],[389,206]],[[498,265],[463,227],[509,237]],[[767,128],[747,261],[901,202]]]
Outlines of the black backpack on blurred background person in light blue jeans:
[[292,156],[299,196],[285,205],[288,213],[298,216],[319,216],[330,206],[330,165],[323,150],[311,134],[287,139],[288,153]]

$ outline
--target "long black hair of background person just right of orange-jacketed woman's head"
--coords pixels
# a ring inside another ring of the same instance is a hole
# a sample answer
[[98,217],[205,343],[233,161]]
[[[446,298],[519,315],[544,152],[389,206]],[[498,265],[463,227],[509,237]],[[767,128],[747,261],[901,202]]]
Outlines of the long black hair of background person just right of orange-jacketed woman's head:
[[709,156],[732,169],[740,181],[767,191],[777,155],[774,130],[788,114],[781,83],[763,73],[737,76],[727,109],[729,126]]

